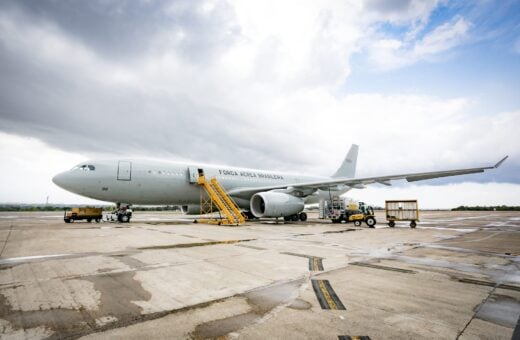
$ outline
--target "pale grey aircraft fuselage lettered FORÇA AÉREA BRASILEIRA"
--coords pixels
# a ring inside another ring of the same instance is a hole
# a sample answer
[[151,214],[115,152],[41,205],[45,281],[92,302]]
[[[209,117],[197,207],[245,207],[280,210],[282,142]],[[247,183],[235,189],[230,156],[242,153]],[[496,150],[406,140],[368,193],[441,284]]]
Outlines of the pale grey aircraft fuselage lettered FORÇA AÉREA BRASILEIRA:
[[[184,205],[200,202],[198,169],[216,177],[226,189],[254,188],[322,180],[327,177],[286,174],[228,166],[161,162],[138,159],[92,160],[53,178],[60,187],[101,201],[144,205]],[[249,208],[249,199],[236,198]]]

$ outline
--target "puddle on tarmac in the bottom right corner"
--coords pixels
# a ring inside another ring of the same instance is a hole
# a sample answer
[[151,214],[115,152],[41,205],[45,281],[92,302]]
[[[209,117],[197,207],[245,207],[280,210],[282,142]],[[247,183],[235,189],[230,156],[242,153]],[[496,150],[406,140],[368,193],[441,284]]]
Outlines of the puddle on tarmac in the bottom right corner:
[[520,315],[520,303],[505,295],[492,295],[480,307],[476,318],[504,327],[515,328]]

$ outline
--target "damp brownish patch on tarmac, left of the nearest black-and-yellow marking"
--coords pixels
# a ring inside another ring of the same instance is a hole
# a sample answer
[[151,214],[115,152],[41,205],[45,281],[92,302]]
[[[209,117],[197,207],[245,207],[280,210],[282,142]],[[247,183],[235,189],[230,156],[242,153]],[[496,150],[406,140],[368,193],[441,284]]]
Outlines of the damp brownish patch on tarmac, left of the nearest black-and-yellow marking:
[[[202,323],[195,328],[191,336],[194,339],[217,338],[242,329],[259,320],[275,307],[295,300],[304,282],[304,279],[284,282],[243,294],[242,296],[247,298],[247,302],[251,306],[250,312]],[[296,299],[289,307],[308,309],[310,304],[307,301]]]

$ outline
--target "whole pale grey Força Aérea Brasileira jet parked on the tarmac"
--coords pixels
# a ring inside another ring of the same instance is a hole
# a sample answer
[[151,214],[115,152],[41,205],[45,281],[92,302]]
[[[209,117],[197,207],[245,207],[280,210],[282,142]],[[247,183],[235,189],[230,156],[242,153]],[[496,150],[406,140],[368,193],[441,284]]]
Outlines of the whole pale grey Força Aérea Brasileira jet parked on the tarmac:
[[[197,165],[139,159],[90,160],[52,180],[70,192],[115,202],[118,207],[131,204],[180,205],[186,214],[200,213],[200,172],[216,177],[237,205],[255,217],[306,219],[305,203],[341,195],[352,188],[406,179],[408,182],[458,176],[498,168],[494,166],[355,178],[358,146],[353,144],[338,170],[330,177],[285,174],[227,166]],[[126,220],[128,221],[128,219]]]

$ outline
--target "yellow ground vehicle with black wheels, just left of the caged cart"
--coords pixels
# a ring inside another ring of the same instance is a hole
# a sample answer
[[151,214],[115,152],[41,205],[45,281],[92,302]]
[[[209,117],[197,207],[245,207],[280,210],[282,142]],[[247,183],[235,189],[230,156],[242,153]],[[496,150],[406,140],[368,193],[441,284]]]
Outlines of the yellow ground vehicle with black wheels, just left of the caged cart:
[[332,223],[352,222],[355,226],[360,226],[365,222],[370,228],[375,228],[376,225],[374,209],[363,202],[333,197],[330,200],[321,200],[319,208],[320,218],[330,219]]

